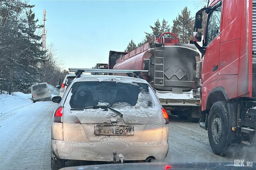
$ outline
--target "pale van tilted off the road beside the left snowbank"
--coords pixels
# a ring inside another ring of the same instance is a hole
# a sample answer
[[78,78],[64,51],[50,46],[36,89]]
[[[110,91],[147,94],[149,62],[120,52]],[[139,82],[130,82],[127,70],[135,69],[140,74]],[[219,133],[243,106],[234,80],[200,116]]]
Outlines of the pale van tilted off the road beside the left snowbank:
[[33,102],[50,101],[52,95],[48,83],[38,83],[31,86],[31,95]]

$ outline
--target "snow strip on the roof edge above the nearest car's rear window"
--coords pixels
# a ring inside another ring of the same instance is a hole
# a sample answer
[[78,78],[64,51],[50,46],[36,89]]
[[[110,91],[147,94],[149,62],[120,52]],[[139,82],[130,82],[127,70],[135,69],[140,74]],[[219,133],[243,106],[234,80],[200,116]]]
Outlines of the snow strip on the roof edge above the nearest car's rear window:
[[122,83],[146,83],[148,82],[143,79],[135,78],[135,77],[128,77],[128,76],[118,76],[118,75],[88,75],[88,76],[81,76],[74,80],[74,82],[80,81],[115,81],[115,82],[122,82]]

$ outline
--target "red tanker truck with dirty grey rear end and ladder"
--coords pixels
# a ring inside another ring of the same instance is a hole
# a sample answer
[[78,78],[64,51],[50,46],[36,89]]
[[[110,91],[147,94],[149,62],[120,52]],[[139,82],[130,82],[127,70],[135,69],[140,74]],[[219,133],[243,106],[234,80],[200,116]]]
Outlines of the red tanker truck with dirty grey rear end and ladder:
[[165,32],[150,43],[127,52],[109,52],[108,69],[148,70],[142,76],[154,88],[166,110],[181,119],[200,119],[200,53],[194,44],[179,44]]

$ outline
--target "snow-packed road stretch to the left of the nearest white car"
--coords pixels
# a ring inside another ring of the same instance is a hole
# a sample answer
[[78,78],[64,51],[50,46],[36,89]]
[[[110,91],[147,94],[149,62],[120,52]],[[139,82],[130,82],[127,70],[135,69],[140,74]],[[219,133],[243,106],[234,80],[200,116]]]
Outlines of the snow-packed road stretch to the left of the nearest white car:
[[36,102],[0,116],[0,169],[50,169],[53,102]]

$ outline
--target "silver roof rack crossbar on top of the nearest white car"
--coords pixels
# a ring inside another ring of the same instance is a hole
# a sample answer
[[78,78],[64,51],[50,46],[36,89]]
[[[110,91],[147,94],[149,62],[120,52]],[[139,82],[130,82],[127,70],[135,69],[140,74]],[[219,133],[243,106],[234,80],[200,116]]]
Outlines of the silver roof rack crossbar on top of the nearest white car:
[[69,68],[69,72],[75,72],[77,78],[85,73],[126,73],[128,76],[139,76],[143,79],[141,73],[148,73],[148,70],[121,70],[121,69],[90,69],[90,68]]

